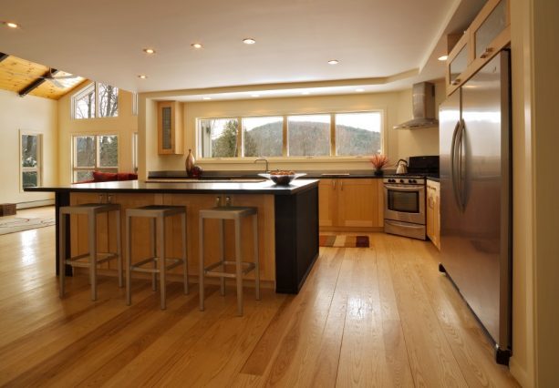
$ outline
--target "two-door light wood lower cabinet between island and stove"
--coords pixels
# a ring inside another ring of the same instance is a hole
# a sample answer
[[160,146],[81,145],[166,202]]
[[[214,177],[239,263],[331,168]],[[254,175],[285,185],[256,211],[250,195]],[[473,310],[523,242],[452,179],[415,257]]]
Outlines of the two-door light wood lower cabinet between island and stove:
[[381,230],[384,224],[382,179],[320,179],[321,230]]

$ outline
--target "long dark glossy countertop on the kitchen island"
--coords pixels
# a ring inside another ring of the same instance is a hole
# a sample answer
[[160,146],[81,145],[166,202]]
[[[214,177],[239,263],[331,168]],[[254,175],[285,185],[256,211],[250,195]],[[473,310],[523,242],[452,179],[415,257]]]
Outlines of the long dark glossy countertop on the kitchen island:
[[145,182],[123,180],[100,183],[79,183],[67,186],[26,188],[26,191],[54,192],[122,192],[122,193],[191,193],[191,194],[274,194],[291,195],[318,185],[316,179],[295,179],[289,186],[275,185],[271,180],[260,182]]

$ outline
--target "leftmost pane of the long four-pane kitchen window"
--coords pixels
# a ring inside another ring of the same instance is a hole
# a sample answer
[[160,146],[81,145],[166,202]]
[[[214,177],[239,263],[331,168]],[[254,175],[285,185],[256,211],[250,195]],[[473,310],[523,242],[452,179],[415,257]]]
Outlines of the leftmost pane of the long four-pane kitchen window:
[[237,118],[200,120],[202,158],[233,158],[238,155]]

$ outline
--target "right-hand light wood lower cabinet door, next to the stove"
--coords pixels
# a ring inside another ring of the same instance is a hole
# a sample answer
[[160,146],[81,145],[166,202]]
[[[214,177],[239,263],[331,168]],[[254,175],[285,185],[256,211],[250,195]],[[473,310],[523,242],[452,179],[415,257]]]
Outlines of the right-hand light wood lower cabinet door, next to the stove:
[[338,179],[339,226],[360,228],[378,226],[378,180]]

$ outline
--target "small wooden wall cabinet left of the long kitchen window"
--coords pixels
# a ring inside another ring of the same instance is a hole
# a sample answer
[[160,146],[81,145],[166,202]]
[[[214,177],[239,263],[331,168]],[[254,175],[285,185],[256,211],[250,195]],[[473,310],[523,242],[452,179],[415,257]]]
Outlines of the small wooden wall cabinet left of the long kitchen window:
[[157,103],[157,146],[160,155],[182,155],[182,106],[178,101]]

